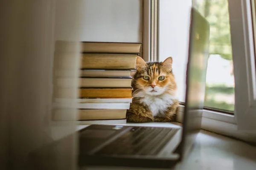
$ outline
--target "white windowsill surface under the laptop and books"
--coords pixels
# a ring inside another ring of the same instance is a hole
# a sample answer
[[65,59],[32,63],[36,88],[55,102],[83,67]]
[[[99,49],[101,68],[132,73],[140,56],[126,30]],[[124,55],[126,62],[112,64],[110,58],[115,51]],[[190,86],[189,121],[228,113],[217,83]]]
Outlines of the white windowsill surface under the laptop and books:
[[[126,124],[134,125],[134,124]],[[180,126],[180,123],[138,123],[142,126]],[[85,125],[86,126],[86,125]],[[80,125],[78,128],[84,126]],[[256,147],[201,130],[191,153],[172,170],[255,170]],[[170,169],[170,170],[171,170]],[[134,167],[84,167],[81,170],[160,170]]]

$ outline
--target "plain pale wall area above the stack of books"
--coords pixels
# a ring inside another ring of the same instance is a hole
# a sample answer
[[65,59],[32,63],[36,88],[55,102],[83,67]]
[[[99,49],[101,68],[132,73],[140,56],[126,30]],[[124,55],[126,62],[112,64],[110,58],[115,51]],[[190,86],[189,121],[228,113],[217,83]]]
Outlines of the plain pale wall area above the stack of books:
[[[75,23],[70,10],[79,3],[75,11],[81,17],[80,41],[142,42],[143,0],[76,0],[58,3],[56,10],[57,40],[69,40]],[[62,27],[61,29],[59,27]]]

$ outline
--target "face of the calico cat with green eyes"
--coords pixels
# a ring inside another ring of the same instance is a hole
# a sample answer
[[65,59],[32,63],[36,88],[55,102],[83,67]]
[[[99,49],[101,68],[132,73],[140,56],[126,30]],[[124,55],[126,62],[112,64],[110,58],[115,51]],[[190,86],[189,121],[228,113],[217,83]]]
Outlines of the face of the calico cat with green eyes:
[[141,57],[136,60],[137,71],[134,74],[134,97],[145,95],[175,95],[176,82],[172,73],[172,57],[164,62],[146,63]]

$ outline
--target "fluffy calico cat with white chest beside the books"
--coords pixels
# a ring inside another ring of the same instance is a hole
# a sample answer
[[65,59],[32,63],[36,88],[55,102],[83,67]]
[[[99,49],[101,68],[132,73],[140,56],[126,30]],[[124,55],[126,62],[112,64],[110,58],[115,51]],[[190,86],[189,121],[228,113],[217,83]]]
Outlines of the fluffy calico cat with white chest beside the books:
[[133,100],[126,113],[127,122],[172,122],[179,102],[172,72],[172,57],[164,62],[145,62],[136,58],[132,77]]

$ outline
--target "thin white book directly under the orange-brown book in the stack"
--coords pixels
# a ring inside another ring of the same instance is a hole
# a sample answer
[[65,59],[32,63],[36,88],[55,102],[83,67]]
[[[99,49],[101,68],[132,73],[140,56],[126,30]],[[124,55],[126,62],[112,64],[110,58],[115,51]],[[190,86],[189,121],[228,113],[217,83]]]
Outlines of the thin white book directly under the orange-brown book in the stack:
[[76,103],[131,103],[131,98],[84,98],[84,99],[65,99],[65,98],[56,98],[55,102],[60,103],[71,103],[71,100],[74,100],[72,102]]

